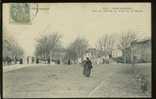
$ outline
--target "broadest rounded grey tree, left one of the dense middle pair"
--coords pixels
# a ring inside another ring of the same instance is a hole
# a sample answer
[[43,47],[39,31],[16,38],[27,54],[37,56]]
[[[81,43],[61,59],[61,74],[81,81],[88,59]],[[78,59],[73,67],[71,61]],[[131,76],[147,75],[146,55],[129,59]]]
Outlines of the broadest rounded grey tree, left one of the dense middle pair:
[[61,35],[57,33],[46,35],[38,39],[35,55],[44,58],[52,57],[57,49],[61,47],[60,39]]

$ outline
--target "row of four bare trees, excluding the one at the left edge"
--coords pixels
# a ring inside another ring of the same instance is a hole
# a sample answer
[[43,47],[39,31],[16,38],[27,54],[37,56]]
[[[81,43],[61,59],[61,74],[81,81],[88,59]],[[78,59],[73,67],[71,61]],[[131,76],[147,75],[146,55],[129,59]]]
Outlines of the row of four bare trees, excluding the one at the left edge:
[[[123,57],[126,61],[127,52],[126,49],[130,47],[131,43],[136,40],[136,34],[132,32],[122,33],[119,38],[118,48],[123,52]],[[61,35],[53,33],[51,35],[43,36],[37,40],[35,55],[44,58],[54,58],[55,53],[58,53],[61,49],[64,49],[61,45]],[[102,51],[102,55],[111,55],[116,40],[113,35],[104,35],[97,41],[96,49]],[[85,51],[89,47],[88,41],[84,38],[76,38],[65,51],[65,59],[72,59],[73,61],[78,58],[82,58]]]

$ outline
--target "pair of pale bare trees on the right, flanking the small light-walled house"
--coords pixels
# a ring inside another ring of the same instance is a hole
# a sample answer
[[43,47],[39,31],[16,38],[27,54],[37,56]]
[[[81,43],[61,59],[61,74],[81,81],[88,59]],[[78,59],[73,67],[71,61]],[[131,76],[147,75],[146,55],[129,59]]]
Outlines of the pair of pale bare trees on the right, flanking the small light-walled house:
[[[123,56],[121,57],[124,63],[130,62],[131,51],[130,47],[132,42],[137,40],[135,32],[122,33],[119,39],[114,39],[113,35],[104,35],[97,42],[97,49],[103,51],[103,55],[111,55],[114,46],[122,51]],[[117,43],[118,42],[118,43]]]

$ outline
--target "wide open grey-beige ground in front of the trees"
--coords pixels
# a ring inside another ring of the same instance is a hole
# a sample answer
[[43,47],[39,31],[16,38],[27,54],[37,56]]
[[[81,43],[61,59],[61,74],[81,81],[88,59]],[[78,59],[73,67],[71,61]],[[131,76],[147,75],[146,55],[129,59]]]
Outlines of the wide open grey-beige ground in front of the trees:
[[[149,64],[145,67],[151,68]],[[7,71],[3,73],[3,96],[150,97],[150,94],[144,95],[138,88],[131,65],[94,65],[90,78],[84,77],[82,71],[81,65],[33,65]],[[151,71],[148,69],[146,72]]]

